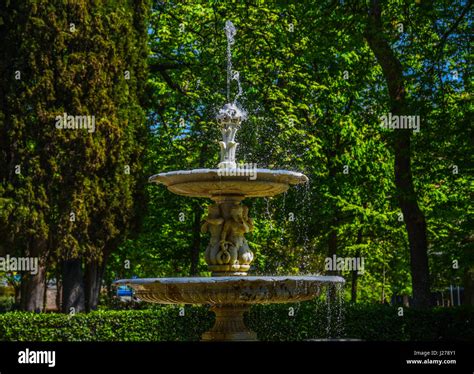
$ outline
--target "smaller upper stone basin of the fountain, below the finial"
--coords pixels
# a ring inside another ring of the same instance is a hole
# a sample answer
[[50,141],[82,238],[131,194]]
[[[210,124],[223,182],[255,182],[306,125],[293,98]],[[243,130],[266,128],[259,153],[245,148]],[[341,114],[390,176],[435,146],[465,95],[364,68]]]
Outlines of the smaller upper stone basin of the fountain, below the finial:
[[[243,172],[244,170],[246,173]],[[246,175],[238,175],[239,173]],[[171,192],[182,196],[266,197],[286,192],[290,185],[305,183],[308,181],[308,177],[302,173],[288,170],[194,169],[156,174],[151,176],[149,181],[162,183]]]

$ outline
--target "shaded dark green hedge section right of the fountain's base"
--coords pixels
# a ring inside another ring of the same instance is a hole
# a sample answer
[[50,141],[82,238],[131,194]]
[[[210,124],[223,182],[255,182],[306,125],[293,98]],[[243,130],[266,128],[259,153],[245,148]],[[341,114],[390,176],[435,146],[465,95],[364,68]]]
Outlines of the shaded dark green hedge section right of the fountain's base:
[[[474,309],[434,308],[427,311],[388,305],[346,305],[328,308],[318,301],[301,303],[289,317],[294,304],[255,306],[247,324],[260,340],[294,341],[341,337],[372,341],[474,340]],[[330,318],[328,318],[328,315]],[[330,320],[329,329],[328,321]],[[329,330],[329,331],[328,331]]]

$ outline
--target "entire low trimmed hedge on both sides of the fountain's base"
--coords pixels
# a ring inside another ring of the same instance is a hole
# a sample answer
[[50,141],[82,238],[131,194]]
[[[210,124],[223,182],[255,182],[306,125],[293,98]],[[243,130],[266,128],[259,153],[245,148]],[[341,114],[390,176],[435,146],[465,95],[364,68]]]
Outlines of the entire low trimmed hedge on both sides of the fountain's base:
[[[294,316],[289,316],[289,308]],[[384,305],[337,306],[328,313],[321,302],[254,306],[246,322],[260,340],[474,340],[472,308],[416,311]],[[328,331],[328,315],[331,320]],[[214,322],[205,307],[173,306],[90,314],[0,314],[0,341],[196,341]]]

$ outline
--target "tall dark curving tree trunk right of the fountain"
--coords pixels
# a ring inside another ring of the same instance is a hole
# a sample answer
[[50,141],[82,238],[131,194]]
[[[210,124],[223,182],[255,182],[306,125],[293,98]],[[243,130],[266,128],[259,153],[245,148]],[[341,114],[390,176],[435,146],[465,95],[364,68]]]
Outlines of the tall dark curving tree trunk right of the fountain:
[[[400,61],[383,37],[381,9],[377,0],[372,1],[365,37],[378,63],[382,67],[388,86],[392,115],[406,115],[408,105],[405,99],[403,69]],[[416,308],[428,308],[431,305],[428,241],[425,216],[418,206],[418,197],[413,185],[411,172],[411,130],[395,129],[393,131],[395,185],[410,246],[413,306]]]

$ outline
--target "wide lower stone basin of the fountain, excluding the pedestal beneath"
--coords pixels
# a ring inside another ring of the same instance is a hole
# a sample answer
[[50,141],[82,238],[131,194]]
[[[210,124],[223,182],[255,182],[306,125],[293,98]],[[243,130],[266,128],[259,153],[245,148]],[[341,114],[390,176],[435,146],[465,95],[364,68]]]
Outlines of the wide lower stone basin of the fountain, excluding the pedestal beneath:
[[271,304],[310,300],[337,276],[242,276],[122,279],[144,301],[159,304]]

